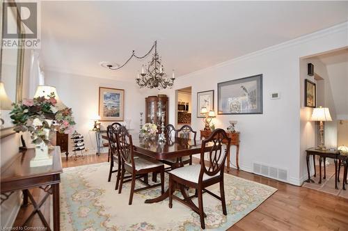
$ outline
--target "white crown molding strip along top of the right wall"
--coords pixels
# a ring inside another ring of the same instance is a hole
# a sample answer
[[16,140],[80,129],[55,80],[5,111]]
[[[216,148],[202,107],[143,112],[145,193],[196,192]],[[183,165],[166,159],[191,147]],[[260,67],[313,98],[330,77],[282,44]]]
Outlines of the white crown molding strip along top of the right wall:
[[196,74],[200,74],[202,72],[206,72],[206,71],[209,71],[209,70],[214,70],[215,68],[219,68],[219,67],[224,67],[226,65],[231,65],[232,63],[237,63],[239,61],[245,61],[249,58],[254,58],[254,57],[257,57],[257,56],[261,56],[261,55],[264,55],[264,54],[268,54],[268,53],[271,53],[271,52],[274,52],[274,51],[278,51],[280,49],[285,49],[287,47],[292,47],[294,45],[299,45],[303,42],[309,42],[310,40],[315,40],[315,39],[318,39],[318,38],[322,38],[324,36],[327,36],[327,35],[331,35],[333,33],[339,33],[341,31],[348,31],[348,21],[347,22],[343,22],[341,24],[337,24],[335,26],[331,26],[329,28],[326,28],[326,29],[322,29],[320,31],[315,31],[313,33],[310,33],[310,34],[307,34],[307,35],[302,35],[301,37],[298,37],[298,38],[294,38],[292,40],[288,40],[286,42],[282,42],[282,43],[279,43],[278,45],[273,45],[271,47],[266,47],[264,49],[260,49],[258,51],[254,51],[254,52],[251,52],[249,54],[245,54],[243,56],[239,56],[237,58],[232,58],[228,61],[225,61],[223,63],[218,63],[216,65],[212,65],[210,67],[206,67],[206,68],[203,68],[201,70],[198,70],[196,72],[191,72],[189,74],[184,74],[178,78],[182,79],[182,78],[186,78],[186,77],[191,77],[191,76],[194,76]]

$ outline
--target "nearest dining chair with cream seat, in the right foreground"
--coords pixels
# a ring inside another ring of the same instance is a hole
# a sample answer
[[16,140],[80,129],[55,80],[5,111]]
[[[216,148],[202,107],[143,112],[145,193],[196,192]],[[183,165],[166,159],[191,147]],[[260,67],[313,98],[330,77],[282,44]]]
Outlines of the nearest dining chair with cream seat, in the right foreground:
[[[222,148],[223,141],[227,141],[224,151]],[[208,143],[211,145],[207,145]],[[227,154],[230,150],[230,143],[231,140],[223,129],[215,129],[208,138],[202,141],[200,159],[203,161],[200,161],[200,164],[175,168],[169,172],[169,207],[173,207],[173,198],[188,205],[193,211],[199,214],[200,227],[203,229],[205,229],[203,192],[209,193],[214,196],[214,198],[221,200],[223,215],[227,215],[225,191],[223,187],[223,170]],[[207,160],[207,164],[204,159]],[[206,189],[208,186],[218,183],[220,184],[220,196]],[[198,193],[198,207],[193,204],[191,198],[187,195],[183,195],[184,199],[173,195],[175,191],[174,186],[180,186],[180,189],[182,189],[183,186],[196,189]]]

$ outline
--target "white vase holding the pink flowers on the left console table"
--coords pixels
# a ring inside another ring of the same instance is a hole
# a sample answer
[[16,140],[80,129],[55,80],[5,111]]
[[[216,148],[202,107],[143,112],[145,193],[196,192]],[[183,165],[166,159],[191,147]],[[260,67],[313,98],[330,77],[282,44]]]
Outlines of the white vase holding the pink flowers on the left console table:
[[[45,129],[45,136],[49,138],[49,129]],[[35,157],[31,159],[31,167],[50,166],[53,163],[52,156],[48,154],[49,147],[45,142],[35,145]]]

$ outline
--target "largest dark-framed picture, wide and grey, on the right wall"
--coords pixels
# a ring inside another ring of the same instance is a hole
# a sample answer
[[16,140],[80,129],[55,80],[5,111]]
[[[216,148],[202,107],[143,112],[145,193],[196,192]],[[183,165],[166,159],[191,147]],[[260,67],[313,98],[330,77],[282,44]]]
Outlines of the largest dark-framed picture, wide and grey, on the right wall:
[[218,114],[262,114],[262,74],[218,83]]

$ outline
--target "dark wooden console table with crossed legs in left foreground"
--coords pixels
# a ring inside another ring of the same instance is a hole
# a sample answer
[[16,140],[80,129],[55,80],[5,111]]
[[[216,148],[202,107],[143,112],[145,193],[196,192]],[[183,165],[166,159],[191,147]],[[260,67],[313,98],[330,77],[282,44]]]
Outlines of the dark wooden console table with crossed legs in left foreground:
[[[28,205],[28,199],[34,207],[33,212],[26,218],[24,225],[38,213],[43,225],[47,230],[49,223],[40,211],[40,207],[45,200],[52,194],[53,197],[53,227],[54,231],[60,229],[59,212],[59,183],[61,182],[62,163],[61,149],[58,146],[49,149],[49,155],[52,157],[52,165],[31,167],[30,161],[35,157],[35,150],[29,149],[19,152],[1,167],[1,203],[7,200],[13,191],[22,190],[24,194],[23,204]],[[40,202],[36,202],[28,189],[39,187],[46,192],[46,195]]]

